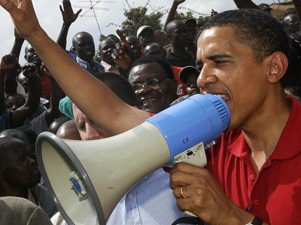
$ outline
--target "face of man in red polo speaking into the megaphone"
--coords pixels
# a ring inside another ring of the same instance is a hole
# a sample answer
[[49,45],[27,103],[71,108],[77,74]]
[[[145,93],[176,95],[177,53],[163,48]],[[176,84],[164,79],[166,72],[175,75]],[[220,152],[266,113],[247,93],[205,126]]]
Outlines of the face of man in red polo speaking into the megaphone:
[[227,103],[231,122],[228,131],[247,126],[262,113],[270,64],[259,63],[254,52],[238,43],[231,27],[211,28],[198,39],[198,86],[203,94],[218,94]]

